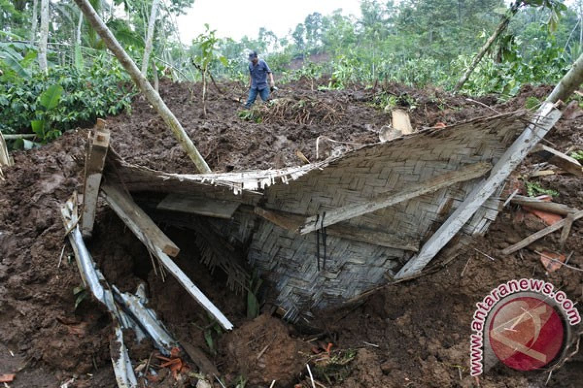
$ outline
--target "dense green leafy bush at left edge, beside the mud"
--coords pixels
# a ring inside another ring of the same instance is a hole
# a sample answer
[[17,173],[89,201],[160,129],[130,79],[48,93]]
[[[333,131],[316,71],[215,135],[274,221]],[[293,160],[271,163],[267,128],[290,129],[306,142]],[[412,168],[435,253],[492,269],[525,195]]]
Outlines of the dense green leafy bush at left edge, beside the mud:
[[[97,60],[82,71],[75,67],[51,67],[48,74],[2,76],[0,131],[29,131],[34,120],[44,120],[52,124],[52,129],[65,131],[93,124],[99,117],[129,111],[135,94],[129,81],[118,62],[109,59]],[[43,108],[41,96],[54,86],[62,88],[58,104]]]

